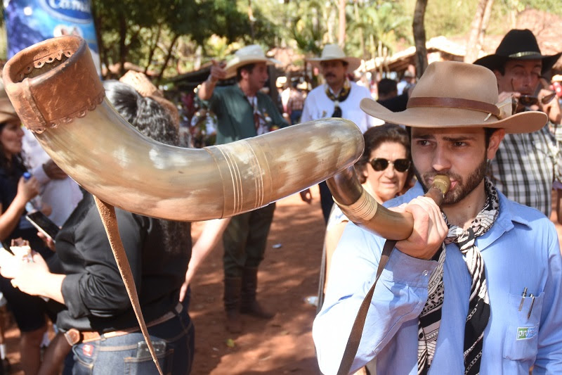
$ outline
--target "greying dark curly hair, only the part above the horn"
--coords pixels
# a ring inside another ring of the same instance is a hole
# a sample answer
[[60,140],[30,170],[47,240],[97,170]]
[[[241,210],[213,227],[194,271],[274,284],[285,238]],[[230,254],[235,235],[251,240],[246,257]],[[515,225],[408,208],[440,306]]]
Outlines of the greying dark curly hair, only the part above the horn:
[[179,134],[166,109],[150,97],[142,96],[131,85],[103,82],[105,96],[122,117],[139,132],[163,144],[178,146]]

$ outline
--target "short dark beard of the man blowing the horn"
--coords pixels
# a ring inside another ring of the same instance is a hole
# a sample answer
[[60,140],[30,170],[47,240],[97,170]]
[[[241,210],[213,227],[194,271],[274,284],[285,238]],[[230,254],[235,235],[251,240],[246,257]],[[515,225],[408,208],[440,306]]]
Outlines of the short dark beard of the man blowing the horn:
[[421,176],[419,172],[415,169],[415,167],[414,167],[414,172],[420,184],[424,186],[425,191],[429,189],[429,184],[427,183],[429,179],[430,178],[433,179],[433,177],[435,177],[437,174],[444,174],[450,179],[454,179],[457,182],[457,184],[455,185],[455,190],[449,191],[448,193],[445,194],[445,198],[443,198],[443,204],[452,205],[455,203],[459,203],[464,198],[466,198],[466,196],[468,196],[469,193],[471,193],[474,189],[476,189],[476,186],[478,186],[484,179],[487,167],[488,167],[488,163],[486,163],[486,160],[485,159],[482,160],[482,163],[480,163],[480,165],[478,165],[478,167],[476,167],[476,169],[473,170],[473,172],[471,172],[471,174],[469,174],[468,177],[466,177],[466,182],[459,174],[453,172],[431,171],[431,172],[426,172],[423,176]]

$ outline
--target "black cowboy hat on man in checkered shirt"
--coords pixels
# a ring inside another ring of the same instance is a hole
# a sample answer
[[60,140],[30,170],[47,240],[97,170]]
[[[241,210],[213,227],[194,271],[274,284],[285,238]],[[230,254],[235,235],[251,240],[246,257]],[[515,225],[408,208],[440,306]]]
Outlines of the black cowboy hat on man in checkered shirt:
[[544,75],[544,73],[548,72],[554,63],[558,61],[561,55],[562,52],[551,56],[542,55],[540,53],[539,44],[537,43],[537,38],[535,38],[531,30],[514,29],[509,30],[509,32],[505,34],[504,39],[502,39],[502,42],[499,43],[496,49],[496,53],[478,58],[478,60],[474,61],[474,64],[485,66],[490,70],[497,70],[501,69],[509,59],[542,60],[541,74]]

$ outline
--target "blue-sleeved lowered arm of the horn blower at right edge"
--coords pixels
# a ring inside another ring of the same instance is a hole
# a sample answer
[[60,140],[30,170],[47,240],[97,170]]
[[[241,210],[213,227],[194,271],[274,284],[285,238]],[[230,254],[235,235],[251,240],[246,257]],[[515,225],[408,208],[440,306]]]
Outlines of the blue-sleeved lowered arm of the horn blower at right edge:
[[562,369],[562,258],[554,224],[549,226],[548,276],[544,283],[534,375],[558,374]]

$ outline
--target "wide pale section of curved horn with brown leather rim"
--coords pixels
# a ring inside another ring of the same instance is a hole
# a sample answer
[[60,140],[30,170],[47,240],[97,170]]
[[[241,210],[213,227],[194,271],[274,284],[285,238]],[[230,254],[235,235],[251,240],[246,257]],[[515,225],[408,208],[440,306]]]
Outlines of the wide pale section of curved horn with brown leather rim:
[[4,84],[22,122],[70,177],[102,201],[152,217],[196,221],[254,210],[344,170],[363,150],[358,127],[335,119],[204,149],[160,144],[104,99],[79,37],[20,51],[6,63]]

